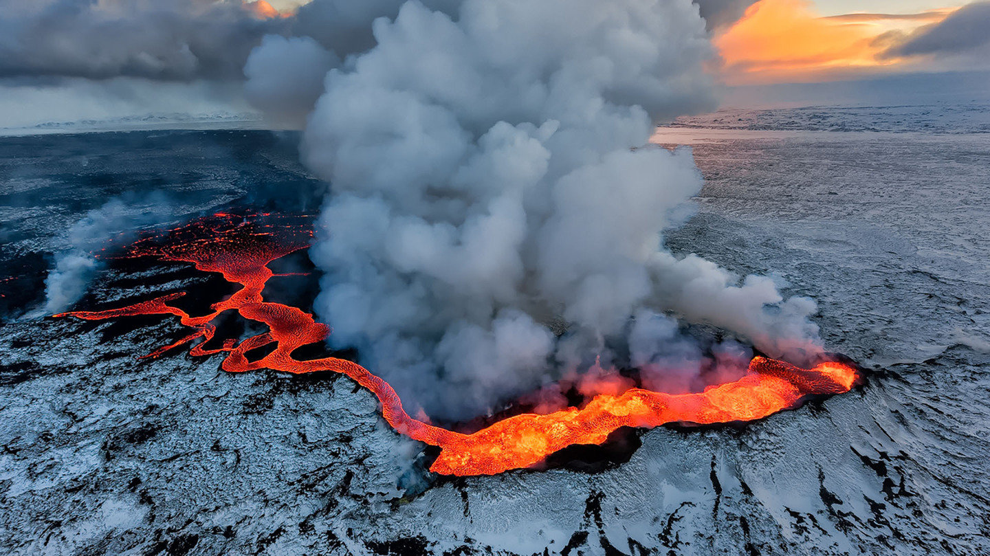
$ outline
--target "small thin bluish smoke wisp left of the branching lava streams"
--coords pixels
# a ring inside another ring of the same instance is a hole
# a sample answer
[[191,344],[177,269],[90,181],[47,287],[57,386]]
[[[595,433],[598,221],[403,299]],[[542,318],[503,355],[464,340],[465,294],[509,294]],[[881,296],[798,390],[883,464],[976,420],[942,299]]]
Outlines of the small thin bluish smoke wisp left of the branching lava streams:
[[175,211],[162,193],[115,198],[89,211],[67,232],[68,248],[55,254],[45,280],[45,315],[69,309],[86,293],[102,268],[95,253],[111,239],[126,241],[134,232],[174,218]]

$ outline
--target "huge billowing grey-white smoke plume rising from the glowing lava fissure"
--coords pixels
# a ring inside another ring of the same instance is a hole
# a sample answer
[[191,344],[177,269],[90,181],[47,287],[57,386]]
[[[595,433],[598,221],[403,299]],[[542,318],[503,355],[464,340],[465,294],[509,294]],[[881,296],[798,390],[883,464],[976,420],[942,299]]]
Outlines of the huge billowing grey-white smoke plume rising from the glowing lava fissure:
[[[311,4],[350,31],[266,41],[248,87],[278,112],[317,89],[303,64],[278,69],[283,56],[335,66],[303,144],[332,184],[311,250],[326,271],[317,310],[410,410],[478,415],[557,379],[622,386],[617,365],[699,388],[743,372],[733,335],[792,359],[820,349],[811,300],[663,245],[702,180],[689,150],[647,141],[715,106],[699,6],[362,6]],[[687,324],[731,334],[699,340]]]

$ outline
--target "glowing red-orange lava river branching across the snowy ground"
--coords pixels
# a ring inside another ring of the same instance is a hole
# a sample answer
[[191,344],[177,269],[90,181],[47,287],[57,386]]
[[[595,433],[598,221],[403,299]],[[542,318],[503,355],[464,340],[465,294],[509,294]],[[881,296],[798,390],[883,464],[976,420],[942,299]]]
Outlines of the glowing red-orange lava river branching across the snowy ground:
[[[179,345],[201,339],[192,355],[227,352],[222,368],[230,372],[272,369],[295,374],[334,371],[346,374],[374,394],[385,420],[402,434],[441,448],[430,468],[445,475],[494,475],[511,469],[540,464],[545,458],[574,444],[601,444],[610,433],[624,426],[653,427],[664,423],[697,424],[746,421],[767,417],[798,406],[815,395],[848,392],[859,376],[851,366],[826,362],[805,370],[764,357],[755,357],[742,379],[707,388],[694,394],[666,394],[634,388],[621,395],[598,395],[582,408],[568,408],[547,415],[508,417],[477,432],[464,434],[410,417],[402,402],[384,380],[364,367],[336,357],[299,360],[293,351],[303,345],[323,342],[330,327],[295,307],[265,302],[262,290],[276,276],[268,268],[275,259],[308,247],[312,232],[305,221],[285,218],[262,224],[261,219],[218,214],[167,233],[148,237],[132,245],[126,256],[156,256],[166,261],[193,263],[199,270],[219,272],[242,288],[230,298],[211,306],[212,312],[191,317],[169,305],[183,296],[173,293],[120,309],[73,312],[55,317],[100,321],[138,315],[173,315],[192,332],[146,355],[157,357]],[[265,324],[268,331],[238,343],[228,339],[222,347],[205,345],[216,333],[214,321],[224,312]],[[247,352],[274,343],[274,350],[249,361]]]

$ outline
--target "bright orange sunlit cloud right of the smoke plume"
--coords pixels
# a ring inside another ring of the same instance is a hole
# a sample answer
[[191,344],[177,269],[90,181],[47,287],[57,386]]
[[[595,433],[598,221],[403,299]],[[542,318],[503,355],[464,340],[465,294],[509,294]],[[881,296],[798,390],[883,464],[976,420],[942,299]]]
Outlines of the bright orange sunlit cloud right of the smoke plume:
[[809,0],[760,0],[715,44],[730,84],[827,80],[898,65],[903,60],[879,55],[891,37],[951,12],[826,18]]

